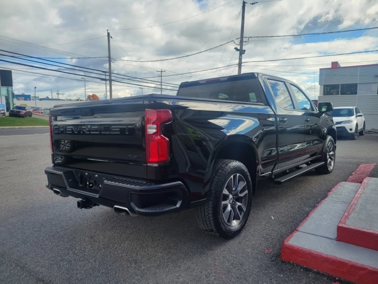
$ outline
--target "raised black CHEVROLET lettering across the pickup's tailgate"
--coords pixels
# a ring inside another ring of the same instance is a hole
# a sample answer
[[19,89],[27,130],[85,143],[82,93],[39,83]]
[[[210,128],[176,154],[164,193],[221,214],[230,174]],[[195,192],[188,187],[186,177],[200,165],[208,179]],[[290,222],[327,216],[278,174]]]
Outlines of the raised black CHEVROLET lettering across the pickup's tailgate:
[[55,125],[55,134],[129,134],[126,125]]

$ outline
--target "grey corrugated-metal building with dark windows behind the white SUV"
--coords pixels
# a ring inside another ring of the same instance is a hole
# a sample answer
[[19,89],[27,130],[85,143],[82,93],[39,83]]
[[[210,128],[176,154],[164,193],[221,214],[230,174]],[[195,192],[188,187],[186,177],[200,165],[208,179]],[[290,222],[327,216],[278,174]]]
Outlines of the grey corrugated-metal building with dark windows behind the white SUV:
[[319,69],[318,102],[356,106],[364,114],[366,130],[378,128],[378,64]]

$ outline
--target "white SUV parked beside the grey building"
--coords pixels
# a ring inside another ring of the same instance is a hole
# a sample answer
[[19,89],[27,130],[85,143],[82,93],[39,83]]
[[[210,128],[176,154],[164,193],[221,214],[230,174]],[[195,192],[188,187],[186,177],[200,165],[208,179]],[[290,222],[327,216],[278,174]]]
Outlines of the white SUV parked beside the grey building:
[[333,108],[330,112],[336,125],[338,136],[349,136],[352,140],[357,135],[365,134],[365,118],[356,106]]

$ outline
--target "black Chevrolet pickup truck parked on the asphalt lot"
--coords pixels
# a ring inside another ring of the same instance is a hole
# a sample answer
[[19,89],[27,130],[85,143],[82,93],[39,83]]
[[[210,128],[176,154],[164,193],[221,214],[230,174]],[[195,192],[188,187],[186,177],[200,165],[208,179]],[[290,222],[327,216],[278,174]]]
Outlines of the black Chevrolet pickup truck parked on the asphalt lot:
[[184,82],[177,96],[56,105],[46,186],[79,198],[79,208],[130,216],[197,207],[202,229],[232,238],[259,179],[332,172],[331,110],[316,108],[295,83],[260,73]]

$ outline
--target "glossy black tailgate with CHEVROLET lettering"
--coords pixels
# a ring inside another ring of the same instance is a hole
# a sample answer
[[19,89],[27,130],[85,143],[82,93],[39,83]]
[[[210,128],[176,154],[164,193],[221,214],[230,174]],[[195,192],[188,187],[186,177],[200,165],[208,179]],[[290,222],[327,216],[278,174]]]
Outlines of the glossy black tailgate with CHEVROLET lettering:
[[56,164],[146,178],[143,99],[90,101],[50,112]]

